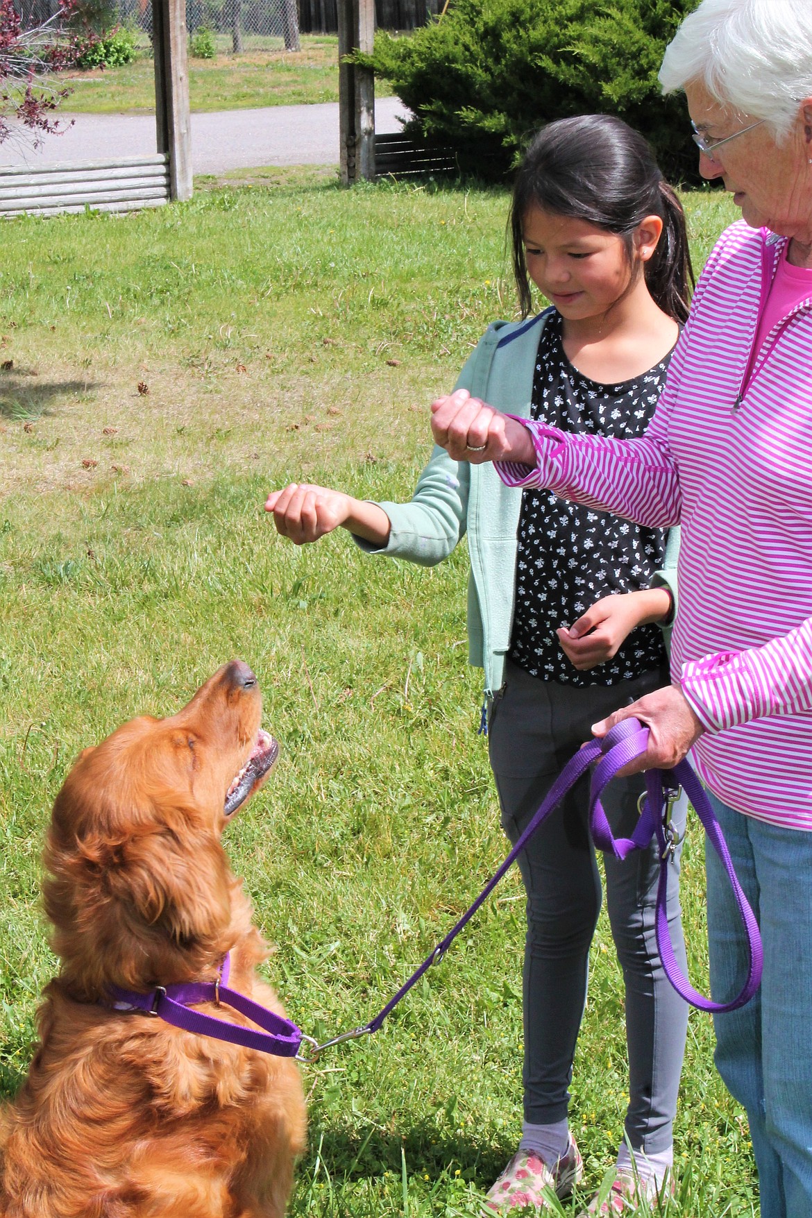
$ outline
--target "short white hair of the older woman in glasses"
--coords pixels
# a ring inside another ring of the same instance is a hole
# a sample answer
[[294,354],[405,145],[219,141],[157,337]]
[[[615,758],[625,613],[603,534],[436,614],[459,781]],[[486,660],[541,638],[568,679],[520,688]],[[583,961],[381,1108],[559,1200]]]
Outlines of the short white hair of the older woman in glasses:
[[812,96],[812,0],[701,0],[660,68],[663,93],[691,80],[783,139]]

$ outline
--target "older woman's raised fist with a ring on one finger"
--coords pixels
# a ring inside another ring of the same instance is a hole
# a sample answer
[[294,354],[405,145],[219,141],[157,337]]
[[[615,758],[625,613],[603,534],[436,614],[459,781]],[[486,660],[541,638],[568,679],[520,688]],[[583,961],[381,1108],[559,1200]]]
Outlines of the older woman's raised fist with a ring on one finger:
[[536,449],[527,428],[492,406],[458,389],[431,403],[431,431],[454,460],[482,465],[488,460],[536,464]]

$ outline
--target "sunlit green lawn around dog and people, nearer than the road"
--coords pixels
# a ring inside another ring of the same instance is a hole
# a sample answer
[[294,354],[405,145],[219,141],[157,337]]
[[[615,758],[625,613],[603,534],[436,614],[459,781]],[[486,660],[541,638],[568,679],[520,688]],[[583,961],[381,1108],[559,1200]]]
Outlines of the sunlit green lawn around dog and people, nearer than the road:
[[[701,266],[734,211],[719,195],[688,202]],[[475,733],[481,675],[465,664],[463,549],[431,571],[370,560],[345,535],[297,549],[262,503],[303,476],[409,493],[429,402],[487,322],[513,313],[505,213],[495,190],[254,185],[122,218],[6,222],[5,1094],[55,968],[38,867],[71,759],[139,711],[173,713],[229,657],[258,672],[284,753],[226,847],[304,1030],[371,1017],[503,857]],[[695,826],[684,875],[701,982]],[[521,1124],[522,921],[514,872],[376,1038],[306,1071],[296,1218],[480,1214]],[[605,917],[592,965],[572,1105],[587,1192],[626,1104]],[[757,1214],[746,1124],[711,1052],[694,1012],[667,1213]]]

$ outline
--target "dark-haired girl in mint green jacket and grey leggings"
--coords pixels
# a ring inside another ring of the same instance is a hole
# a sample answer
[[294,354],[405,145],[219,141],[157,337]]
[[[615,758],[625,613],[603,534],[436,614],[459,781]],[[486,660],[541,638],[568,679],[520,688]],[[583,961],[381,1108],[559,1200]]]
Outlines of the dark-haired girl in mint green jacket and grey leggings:
[[[648,144],[606,116],[550,123],[519,169],[510,231],[523,320],[488,329],[458,389],[472,403],[481,397],[564,430],[639,436],[688,314],[691,275],[682,207]],[[531,281],[551,307],[528,319]],[[442,448],[408,504],[293,484],[273,492],[265,508],[297,544],[341,525],[370,553],[424,565],[446,558],[467,531],[470,659],[485,669],[491,764],[514,842],[590,739],[590,725],[668,683],[654,625],[673,609],[668,580],[657,575],[666,563],[660,530],[547,491],[510,490],[491,464],[458,464]],[[615,833],[632,832],[643,789],[639,776],[612,784],[605,806]],[[545,1185],[564,1197],[582,1174],[567,1088],[601,899],[587,795],[584,780],[520,859],[525,1122],[519,1150],[488,1192],[493,1209],[542,1211]],[[610,1200],[600,1209],[593,1201],[588,1213],[633,1208],[643,1191],[656,1192],[673,1161],[688,1009],[656,950],[657,870],[654,845],[645,857],[605,859],[626,984],[629,1105]],[[677,884],[671,888],[672,942],[684,963]]]

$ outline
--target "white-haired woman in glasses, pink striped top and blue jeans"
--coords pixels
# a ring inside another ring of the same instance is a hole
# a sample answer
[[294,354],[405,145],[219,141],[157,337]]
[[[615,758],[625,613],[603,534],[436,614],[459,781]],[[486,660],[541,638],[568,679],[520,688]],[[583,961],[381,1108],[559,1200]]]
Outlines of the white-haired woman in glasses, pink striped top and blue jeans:
[[[648,526],[682,524],[673,686],[595,725],[650,727],[640,769],[693,749],[765,945],[760,995],[716,1021],[746,1107],[763,1218],[812,1214],[812,2],[702,0],[668,46],[705,178],[744,222],[719,239],[640,440],[519,421],[459,391],[432,407],[458,460]],[[530,390],[528,390],[530,391]],[[707,857],[711,983],[745,970]]]

